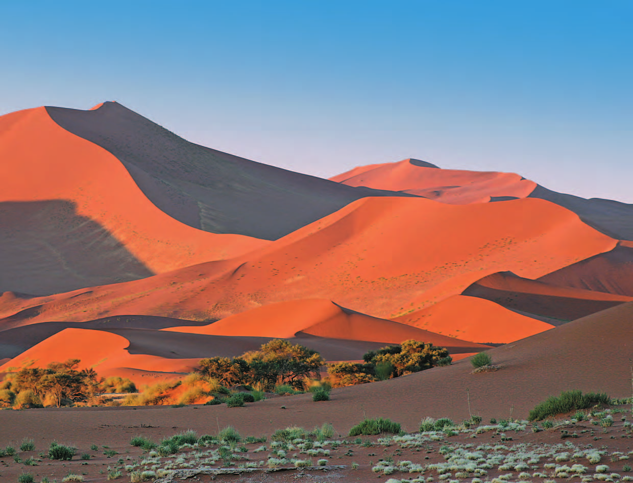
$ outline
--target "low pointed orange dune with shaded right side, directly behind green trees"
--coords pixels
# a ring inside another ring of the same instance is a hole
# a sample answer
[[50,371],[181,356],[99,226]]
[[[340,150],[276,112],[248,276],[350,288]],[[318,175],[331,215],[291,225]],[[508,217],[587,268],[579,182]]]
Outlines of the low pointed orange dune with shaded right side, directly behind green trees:
[[223,336],[292,338],[311,334],[322,338],[374,341],[399,344],[417,339],[451,352],[473,352],[484,346],[433,334],[415,327],[349,312],[330,300],[291,300],[231,315],[208,326],[169,327],[164,331]]

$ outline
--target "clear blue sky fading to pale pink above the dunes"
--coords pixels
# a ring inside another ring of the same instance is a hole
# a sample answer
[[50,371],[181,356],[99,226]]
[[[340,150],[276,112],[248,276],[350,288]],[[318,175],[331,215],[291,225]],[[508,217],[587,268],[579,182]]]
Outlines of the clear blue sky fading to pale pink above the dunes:
[[416,157],[633,203],[633,3],[0,3],[0,114],[118,101],[329,177]]

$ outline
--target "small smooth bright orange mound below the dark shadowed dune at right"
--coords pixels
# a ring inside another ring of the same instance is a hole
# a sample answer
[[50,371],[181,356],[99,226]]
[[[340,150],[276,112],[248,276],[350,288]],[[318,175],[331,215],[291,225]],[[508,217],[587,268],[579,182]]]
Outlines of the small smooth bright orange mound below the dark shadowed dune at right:
[[453,295],[428,309],[393,320],[450,337],[495,344],[523,339],[553,327],[489,300],[464,295]]

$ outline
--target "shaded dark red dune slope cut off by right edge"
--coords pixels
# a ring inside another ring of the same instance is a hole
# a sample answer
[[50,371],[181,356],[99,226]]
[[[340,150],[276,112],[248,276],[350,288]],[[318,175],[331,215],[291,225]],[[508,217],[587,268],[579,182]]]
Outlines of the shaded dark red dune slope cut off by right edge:
[[633,297],[632,245],[620,242],[610,252],[563,267],[542,276],[539,281]]

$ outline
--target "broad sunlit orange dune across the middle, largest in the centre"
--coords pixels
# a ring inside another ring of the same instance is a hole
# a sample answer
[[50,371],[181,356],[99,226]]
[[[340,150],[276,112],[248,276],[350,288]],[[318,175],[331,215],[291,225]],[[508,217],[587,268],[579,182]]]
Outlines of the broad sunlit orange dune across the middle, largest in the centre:
[[392,319],[489,274],[537,278],[616,243],[544,200],[448,205],[373,197],[234,260],[91,291],[13,298],[0,315],[13,324],[122,314],[223,319],[260,305],[327,298]]

